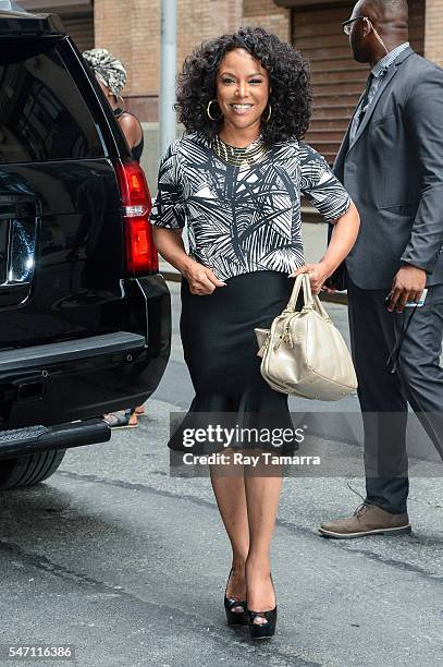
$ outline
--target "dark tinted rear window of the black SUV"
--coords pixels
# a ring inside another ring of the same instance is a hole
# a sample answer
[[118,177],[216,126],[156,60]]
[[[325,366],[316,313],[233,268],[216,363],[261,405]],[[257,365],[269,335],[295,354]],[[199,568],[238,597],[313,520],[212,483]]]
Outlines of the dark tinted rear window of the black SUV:
[[94,119],[57,45],[10,41],[0,52],[0,162],[102,156]]

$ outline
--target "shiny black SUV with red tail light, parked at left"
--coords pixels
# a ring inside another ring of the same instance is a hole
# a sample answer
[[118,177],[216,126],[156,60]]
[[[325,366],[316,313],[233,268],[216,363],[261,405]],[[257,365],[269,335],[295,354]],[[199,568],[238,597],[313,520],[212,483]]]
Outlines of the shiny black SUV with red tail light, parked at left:
[[171,305],[149,210],[59,17],[0,10],[0,488],[108,440],[102,415],[157,388]]

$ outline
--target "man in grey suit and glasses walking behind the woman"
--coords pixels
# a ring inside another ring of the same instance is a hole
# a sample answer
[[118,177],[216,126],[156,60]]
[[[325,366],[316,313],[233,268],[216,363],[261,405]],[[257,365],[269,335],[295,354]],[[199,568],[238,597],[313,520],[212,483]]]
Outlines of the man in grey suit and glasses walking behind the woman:
[[321,525],[336,538],[410,532],[408,402],[443,458],[443,70],[410,48],[406,0],[360,0],[344,31],[371,65],[334,165],[361,218],[345,280],[367,496]]

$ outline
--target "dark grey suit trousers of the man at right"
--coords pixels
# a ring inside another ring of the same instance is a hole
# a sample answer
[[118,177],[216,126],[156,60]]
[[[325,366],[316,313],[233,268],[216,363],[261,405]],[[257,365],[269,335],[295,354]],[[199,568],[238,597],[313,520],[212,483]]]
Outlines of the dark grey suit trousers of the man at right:
[[[362,290],[347,277],[347,291],[364,417],[366,501],[403,513],[409,492],[408,403],[443,459],[443,284],[429,288],[423,307],[403,314],[387,312],[389,290]],[[408,323],[397,371],[390,374],[387,359]]]

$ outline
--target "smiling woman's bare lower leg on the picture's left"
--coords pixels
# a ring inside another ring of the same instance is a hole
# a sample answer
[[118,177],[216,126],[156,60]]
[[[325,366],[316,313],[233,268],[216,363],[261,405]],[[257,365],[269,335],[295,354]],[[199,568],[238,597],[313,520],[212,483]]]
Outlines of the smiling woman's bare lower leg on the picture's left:
[[[225,453],[230,453],[230,450]],[[243,470],[241,465],[210,465],[209,469],[217,505],[232,547],[232,574],[226,595],[246,599],[245,562],[249,550],[249,527]],[[234,607],[233,610],[237,609]]]

